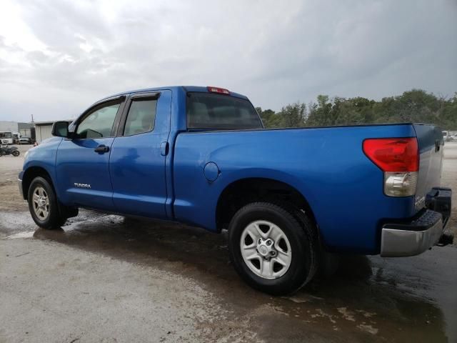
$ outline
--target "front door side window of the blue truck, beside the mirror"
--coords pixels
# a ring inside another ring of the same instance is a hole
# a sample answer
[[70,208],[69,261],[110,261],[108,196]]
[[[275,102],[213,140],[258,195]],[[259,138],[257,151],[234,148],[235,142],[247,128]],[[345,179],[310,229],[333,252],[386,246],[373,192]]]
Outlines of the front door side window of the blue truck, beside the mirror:
[[102,138],[111,136],[114,119],[120,104],[107,104],[86,116],[78,125],[79,138]]

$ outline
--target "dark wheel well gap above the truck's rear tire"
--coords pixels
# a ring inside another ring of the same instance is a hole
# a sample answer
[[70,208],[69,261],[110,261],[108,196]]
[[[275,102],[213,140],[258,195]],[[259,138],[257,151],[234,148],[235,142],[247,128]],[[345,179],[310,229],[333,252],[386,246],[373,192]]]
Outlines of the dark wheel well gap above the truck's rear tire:
[[273,179],[248,178],[229,184],[221,193],[216,207],[217,229],[220,231],[227,228],[238,209],[258,201],[291,204],[306,212],[313,224],[316,224],[311,207],[294,187]]

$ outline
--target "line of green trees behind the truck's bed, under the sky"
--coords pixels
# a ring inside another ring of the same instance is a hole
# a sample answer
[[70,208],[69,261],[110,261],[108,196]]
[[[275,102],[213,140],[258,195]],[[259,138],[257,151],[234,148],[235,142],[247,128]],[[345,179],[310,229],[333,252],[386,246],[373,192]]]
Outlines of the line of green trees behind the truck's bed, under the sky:
[[278,112],[261,107],[256,110],[268,128],[416,122],[457,130],[457,92],[448,98],[412,89],[381,101],[318,95],[309,104],[298,101]]

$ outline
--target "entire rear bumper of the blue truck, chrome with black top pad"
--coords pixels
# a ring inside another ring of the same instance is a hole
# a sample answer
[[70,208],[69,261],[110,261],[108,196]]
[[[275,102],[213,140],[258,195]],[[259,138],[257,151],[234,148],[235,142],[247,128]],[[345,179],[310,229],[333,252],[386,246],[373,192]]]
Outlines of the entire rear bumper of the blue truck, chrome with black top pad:
[[451,215],[451,189],[433,189],[428,209],[411,222],[384,224],[381,256],[406,257],[425,252],[438,243]]

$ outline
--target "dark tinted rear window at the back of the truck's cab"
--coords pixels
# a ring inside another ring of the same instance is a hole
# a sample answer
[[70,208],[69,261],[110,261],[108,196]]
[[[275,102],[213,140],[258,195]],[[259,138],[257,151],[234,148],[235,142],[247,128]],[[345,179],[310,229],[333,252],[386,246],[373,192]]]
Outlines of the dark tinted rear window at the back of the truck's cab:
[[233,96],[189,92],[188,129],[262,129],[252,104]]

